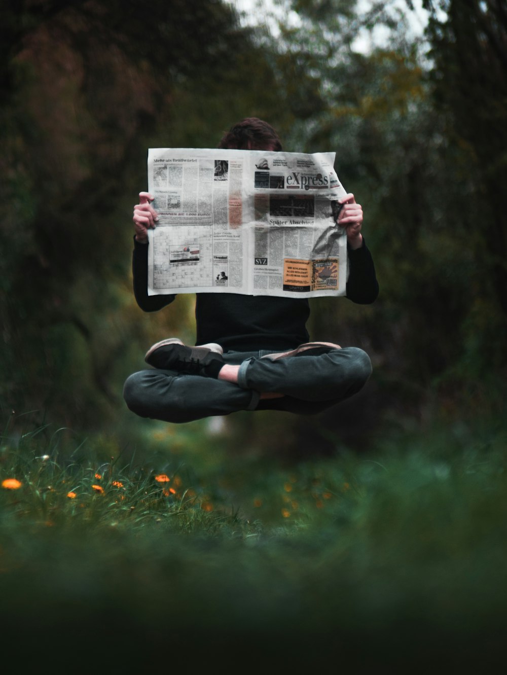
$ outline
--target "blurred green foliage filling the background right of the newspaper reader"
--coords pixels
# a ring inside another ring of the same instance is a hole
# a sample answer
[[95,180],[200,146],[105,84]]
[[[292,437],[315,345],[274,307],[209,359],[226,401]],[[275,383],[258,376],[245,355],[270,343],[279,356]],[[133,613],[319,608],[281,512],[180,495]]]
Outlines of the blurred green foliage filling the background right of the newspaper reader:
[[[494,83],[505,81],[504,13],[495,2],[445,3],[427,32],[429,61],[394,3],[367,15],[352,2],[282,4],[298,22],[282,26],[276,49],[306,63],[318,101],[296,120],[290,149],[336,150],[338,175],[365,208],[381,289],[367,311],[314,302],[313,337],[367,350],[366,405],[384,419],[500,412],[507,111]],[[380,26],[383,45],[359,52],[358,37]]]

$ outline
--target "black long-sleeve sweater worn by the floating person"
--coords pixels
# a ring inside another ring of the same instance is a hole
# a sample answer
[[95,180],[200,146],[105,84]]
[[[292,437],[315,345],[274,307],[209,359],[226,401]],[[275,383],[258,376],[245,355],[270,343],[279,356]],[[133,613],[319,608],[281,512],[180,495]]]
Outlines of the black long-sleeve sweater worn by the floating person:
[[[363,246],[348,249],[349,274],[346,297],[358,304],[371,304],[379,294],[375,266]],[[148,295],[148,246],[134,238],[132,255],[134,295],[144,312],[156,312],[176,295]],[[284,350],[309,341],[306,321],[307,298],[248,296],[236,293],[196,294],[196,343],[217,342],[223,351]]]

